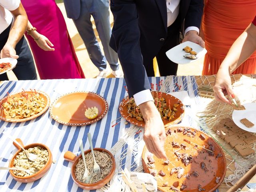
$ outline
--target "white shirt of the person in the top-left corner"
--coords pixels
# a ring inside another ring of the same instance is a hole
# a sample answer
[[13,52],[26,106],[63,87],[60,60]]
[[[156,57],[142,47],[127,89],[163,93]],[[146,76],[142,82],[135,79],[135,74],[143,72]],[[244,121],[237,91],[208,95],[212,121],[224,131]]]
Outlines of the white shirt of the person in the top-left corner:
[[20,0],[0,0],[0,34],[12,22],[12,14],[10,11],[16,10],[20,6]]

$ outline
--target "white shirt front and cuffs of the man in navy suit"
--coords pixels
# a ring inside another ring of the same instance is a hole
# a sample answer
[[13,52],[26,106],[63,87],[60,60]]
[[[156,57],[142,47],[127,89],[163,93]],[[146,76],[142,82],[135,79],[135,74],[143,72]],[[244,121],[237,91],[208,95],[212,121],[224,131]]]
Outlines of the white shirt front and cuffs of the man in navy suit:
[[[166,7],[167,7],[167,27],[174,23],[176,18],[179,14],[180,9],[180,0],[166,0]],[[186,28],[184,34],[186,34],[188,31],[195,30],[199,34],[199,29],[195,26],[190,26]],[[154,101],[152,94],[149,89],[140,91],[136,94],[134,94],[134,100],[136,105],[140,105],[147,101]]]

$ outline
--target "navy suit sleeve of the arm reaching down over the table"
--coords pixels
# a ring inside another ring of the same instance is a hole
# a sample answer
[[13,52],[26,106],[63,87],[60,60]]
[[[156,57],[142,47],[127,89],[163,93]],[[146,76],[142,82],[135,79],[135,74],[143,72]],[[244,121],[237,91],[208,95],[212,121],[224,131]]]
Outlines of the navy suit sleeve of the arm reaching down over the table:
[[140,50],[140,29],[134,0],[111,0],[114,26],[110,46],[118,53],[129,96],[150,89]]

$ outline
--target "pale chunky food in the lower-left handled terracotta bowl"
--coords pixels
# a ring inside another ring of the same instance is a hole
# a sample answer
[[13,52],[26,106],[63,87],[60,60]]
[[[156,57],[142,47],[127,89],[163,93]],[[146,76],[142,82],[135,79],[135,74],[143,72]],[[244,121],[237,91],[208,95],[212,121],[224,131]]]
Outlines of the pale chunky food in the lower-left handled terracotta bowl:
[[[14,167],[16,168],[21,168],[21,169],[28,169],[30,172],[38,172],[41,170],[46,162],[48,161],[49,154],[48,151],[42,147],[33,147],[33,148],[28,148],[26,150],[29,153],[36,154],[38,157],[36,158],[36,161],[30,161],[28,160],[26,153],[24,151],[20,152],[14,159]],[[30,176],[31,174],[28,174],[27,172],[24,171],[19,171],[19,170],[13,170],[13,173],[16,176],[20,177],[27,177]]]

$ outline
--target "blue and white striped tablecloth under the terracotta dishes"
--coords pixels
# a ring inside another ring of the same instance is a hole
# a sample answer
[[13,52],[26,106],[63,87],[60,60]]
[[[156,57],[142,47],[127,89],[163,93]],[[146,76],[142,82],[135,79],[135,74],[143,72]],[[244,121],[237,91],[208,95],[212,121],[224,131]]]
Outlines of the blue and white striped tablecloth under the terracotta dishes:
[[[149,78],[150,82],[156,84],[164,77]],[[187,90],[190,98],[197,95],[195,78],[192,76],[173,76],[170,82],[170,90],[176,90],[175,84],[183,85],[182,90]],[[68,85],[68,86],[65,86]],[[71,85],[71,86],[70,86]],[[120,117],[118,105],[127,95],[123,78],[102,78],[102,79],[68,79],[68,80],[28,80],[28,81],[8,81],[0,86],[0,98],[10,94],[20,92],[22,88],[30,88],[46,92],[51,99],[51,103],[60,96],[59,87],[64,87],[66,92],[69,88],[72,91],[91,91],[103,96],[109,104],[108,113],[102,120],[87,126],[66,126],[53,120],[47,110],[42,116],[34,120],[21,123],[10,123],[0,121],[0,166],[8,166],[10,159],[16,152],[12,141],[2,134],[3,131],[10,133],[14,138],[20,138],[24,144],[34,142],[48,146],[53,154],[52,164],[48,173],[41,179],[31,183],[16,182],[8,171],[0,170],[0,192],[7,191],[29,191],[29,192],[74,192],[83,191],[72,180],[70,169],[72,163],[64,160],[66,151],[80,154],[78,140],[82,138],[84,149],[89,149],[87,133],[92,134],[94,147],[101,147],[110,150],[122,136],[125,129],[130,128],[130,124],[120,124],[111,127],[113,120]],[[178,90],[176,90],[178,91]],[[188,117],[189,118],[189,117]],[[6,128],[5,128],[6,127]],[[127,146],[126,146],[127,147]],[[125,149],[122,149],[125,150]],[[131,160],[125,160],[125,165],[132,164]],[[85,191],[85,190],[84,190]],[[92,190],[96,191],[96,190]]]

